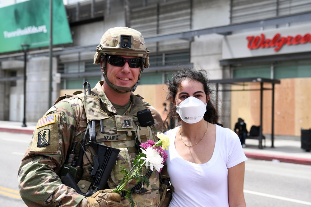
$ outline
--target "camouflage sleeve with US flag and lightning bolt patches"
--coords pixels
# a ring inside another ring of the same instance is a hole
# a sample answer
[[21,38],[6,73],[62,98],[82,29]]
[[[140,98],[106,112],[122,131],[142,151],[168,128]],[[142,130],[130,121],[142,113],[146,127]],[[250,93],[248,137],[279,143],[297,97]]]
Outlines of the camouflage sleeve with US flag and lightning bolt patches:
[[27,206],[80,206],[84,196],[58,176],[71,143],[83,138],[77,131],[83,123],[79,107],[63,101],[39,119],[18,170],[19,191]]

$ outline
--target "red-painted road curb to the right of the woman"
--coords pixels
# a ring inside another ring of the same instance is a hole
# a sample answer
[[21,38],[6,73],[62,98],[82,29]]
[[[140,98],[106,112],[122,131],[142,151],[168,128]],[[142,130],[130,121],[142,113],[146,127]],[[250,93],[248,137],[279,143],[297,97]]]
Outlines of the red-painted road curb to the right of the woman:
[[246,157],[257,159],[257,160],[270,160],[270,161],[279,160],[280,162],[311,165],[311,159],[307,159],[307,158],[288,157],[288,156],[281,156],[281,155],[266,155],[266,154],[251,153],[251,152],[244,152],[244,153]]

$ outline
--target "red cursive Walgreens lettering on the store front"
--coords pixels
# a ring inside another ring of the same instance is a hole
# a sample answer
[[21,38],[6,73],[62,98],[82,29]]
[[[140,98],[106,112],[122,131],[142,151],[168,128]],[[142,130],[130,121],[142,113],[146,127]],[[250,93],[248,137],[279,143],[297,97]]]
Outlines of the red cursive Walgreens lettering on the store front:
[[311,34],[282,36],[280,33],[277,33],[273,38],[266,38],[265,34],[261,34],[260,36],[247,36],[246,39],[248,40],[247,47],[250,50],[274,47],[274,51],[278,52],[285,44],[298,45],[311,43]]

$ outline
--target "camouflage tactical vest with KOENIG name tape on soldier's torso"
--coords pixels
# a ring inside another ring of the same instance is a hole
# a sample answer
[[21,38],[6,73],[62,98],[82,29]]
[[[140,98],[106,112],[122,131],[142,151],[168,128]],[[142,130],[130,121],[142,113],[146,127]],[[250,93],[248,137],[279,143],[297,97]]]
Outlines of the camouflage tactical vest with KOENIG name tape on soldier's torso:
[[[131,105],[130,109],[127,110],[127,115],[116,115],[115,113],[107,110],[107,107],[104,106],[104,103],[100,100],[100,97],[95,95],[84,95],[83,93],[77,95],[67,95],[66,99],[63,99],[62,101],[67,101],[71,104],[77,102],[79,104],[83,104],[87,122],[95,121],[96,123],[96,142],[103,145],[112,146],[121,150],[117,158],[117,164],[114,165],[108,180],[109,188],[115,188],[121,182],[124,176],[124,174],[120,173],[121,168],[119,167],[119,165],[129,171],[132,168],[132,160],[138,154],[137,147],[135,146],[135,139],[138,139],[140,142],[145,142],[149,139],[153,141],[156,140],[152,132],[152,128],[141,127],[136,116],[138,111],[146,109],[146,106],[144,106],[144,102],[140,97],[134,96],[132,94]],[[103,126],[101,126],[100,120],[102,120]],[[93,134],[91,134],[91,136],[92,135]],[[86,154],[91,160],[95,152],[92,147],[87,147]],[[91,185],[88,181],[91,181],[92,179],[89,173],[91,165],[89,164],[86,155],[84,155],[83,157],[82,168],[83,175],[82,179],[78,183],[78,186],[80,187],[82,192],[86,192],[88,187]],[[143,174],[144,173],[146,172],[143,172]],[[128,189],[131,189],[132,187],[137,185],[135,181],[136,180],[132,180],[132,182],[129,183]],[[146,184],[144,185],[144,189],[147,189],[145,193],[134,192],[132,194],[135,206],[155,207],[159,205],[160,182],[159,175],[156,170],[152,172],[149,181],[150,184],[148,187],[146,187]],[[129,200],[122,197],[120,201],[120,206],[130,206]]]

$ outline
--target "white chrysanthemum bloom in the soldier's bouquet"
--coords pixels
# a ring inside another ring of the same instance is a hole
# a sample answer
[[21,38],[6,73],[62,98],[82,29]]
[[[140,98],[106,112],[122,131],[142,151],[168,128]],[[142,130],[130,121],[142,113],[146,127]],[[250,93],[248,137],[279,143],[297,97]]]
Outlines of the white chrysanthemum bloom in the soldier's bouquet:
[[[148,147],[146,150],[142,149],[142,153],[146,155],[146,157],[142,157],[141,159],[145,160],[143,164],[146,163],[146,169],[148,169],[148,166],[150,164],[150,169],[153,170],[153,168],[156,169],[156,171],[160,172],[160,169],[163,168],[163,158],[159,154],[158,151],[152,149],[151,147]],[[143,165],[141,164],[141,165]]]

